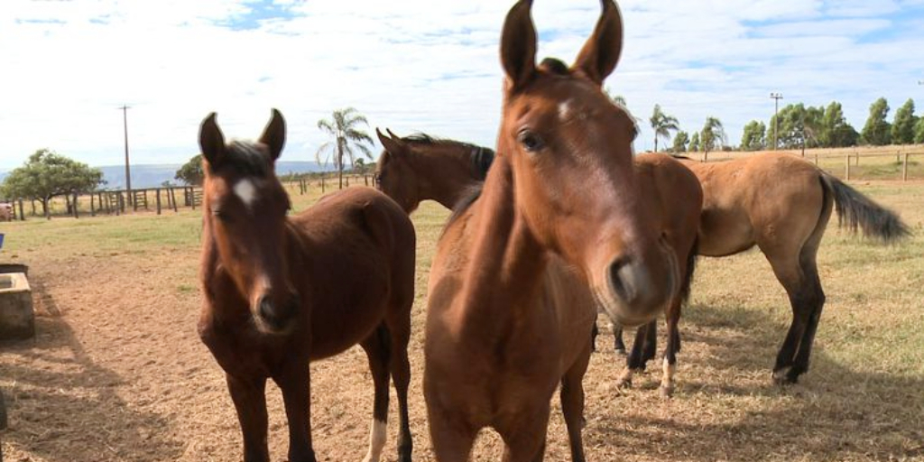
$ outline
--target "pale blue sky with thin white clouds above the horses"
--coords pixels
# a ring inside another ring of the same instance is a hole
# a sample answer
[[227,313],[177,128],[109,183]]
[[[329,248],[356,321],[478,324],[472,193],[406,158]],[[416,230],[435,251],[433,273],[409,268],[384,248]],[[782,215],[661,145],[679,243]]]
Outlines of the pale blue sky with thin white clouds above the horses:
[[[317,128],[355,107],[369,133],[391,128],[493,146],[507,0],[3,0],[0,170],[38,149],[91,165],[181,164],[201,120],[257,138],[286,116],[282,160],[314,160]],[[869,104],[924,112],[924,0],[626,0],[623,55],[605,86],[641,119],[652,108],[687,132],[718,117],[737,144],[788,103],[844,104],[857,130]],[[536,0],[539,59],[571,63],[600,14],[594,0]],[[374,138],[374,136],[373,136]],[[663,146],[664,141],[661,141]],[[381,146],[376,141],[374,152]]]

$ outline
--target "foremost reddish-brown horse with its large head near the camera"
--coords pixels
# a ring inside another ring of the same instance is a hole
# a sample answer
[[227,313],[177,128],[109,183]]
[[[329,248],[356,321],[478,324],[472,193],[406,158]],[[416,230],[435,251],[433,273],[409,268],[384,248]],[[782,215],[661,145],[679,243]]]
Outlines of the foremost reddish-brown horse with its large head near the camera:
[[573,67],[537,67],[530,5],[505,20],[497,158],[432,265],[423,386],[442,462],[467,460],[484,427],[504,439],[505,461],[541,460],[559,382],[572,458],[583,460],[581,378],[597,304],[639,324],[680,286],[632,165],[634,121],[601,89],[621,51],[618,9],[603,1]]

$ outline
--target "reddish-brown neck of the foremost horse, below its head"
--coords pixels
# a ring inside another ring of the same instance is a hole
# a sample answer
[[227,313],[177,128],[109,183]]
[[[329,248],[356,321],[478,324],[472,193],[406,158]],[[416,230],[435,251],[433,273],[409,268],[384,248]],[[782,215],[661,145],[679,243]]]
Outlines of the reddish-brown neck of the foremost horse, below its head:
[[[474,296],[469,299],[480,300],[469,308],[490,310],[493,317],[529,306],[524,297],[535,293],[547,264],[546,250],[517,213],[510,164],[505,159],[495,164],[470,212],[473,230],[466,274],[466,290]],[[504,310],[493,309],[498,306]]]

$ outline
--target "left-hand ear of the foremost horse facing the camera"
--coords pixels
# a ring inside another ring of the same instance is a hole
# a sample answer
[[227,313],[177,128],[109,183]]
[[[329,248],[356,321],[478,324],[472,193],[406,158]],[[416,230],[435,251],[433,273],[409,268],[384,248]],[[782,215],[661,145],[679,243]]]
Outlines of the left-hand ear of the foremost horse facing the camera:
[[507,88],[517,91],[536,72],[536,28],[529,10],[532,0],[520,0],[510,8],[501,32],[501,64],[507,75]]

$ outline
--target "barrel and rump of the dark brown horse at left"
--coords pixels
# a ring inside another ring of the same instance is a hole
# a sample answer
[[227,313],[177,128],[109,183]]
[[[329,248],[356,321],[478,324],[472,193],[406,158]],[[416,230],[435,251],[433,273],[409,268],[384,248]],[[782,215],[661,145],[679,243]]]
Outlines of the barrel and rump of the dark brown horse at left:
[[327,196],[292,220],[304,267],[293,269],[309,298],[311,359],[363,340],[388,310],[409,310],[416,236],[407,213],[372,188]]

